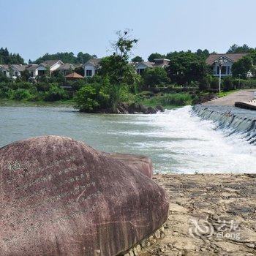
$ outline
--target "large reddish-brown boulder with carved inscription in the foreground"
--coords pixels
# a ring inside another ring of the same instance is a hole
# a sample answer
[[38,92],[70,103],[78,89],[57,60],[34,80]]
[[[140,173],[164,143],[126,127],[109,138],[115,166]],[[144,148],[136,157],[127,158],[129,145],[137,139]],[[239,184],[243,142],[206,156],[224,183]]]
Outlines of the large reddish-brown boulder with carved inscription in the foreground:
[[167,219],[138,167],[71,138],[0,148],[0,255],[118,255]]

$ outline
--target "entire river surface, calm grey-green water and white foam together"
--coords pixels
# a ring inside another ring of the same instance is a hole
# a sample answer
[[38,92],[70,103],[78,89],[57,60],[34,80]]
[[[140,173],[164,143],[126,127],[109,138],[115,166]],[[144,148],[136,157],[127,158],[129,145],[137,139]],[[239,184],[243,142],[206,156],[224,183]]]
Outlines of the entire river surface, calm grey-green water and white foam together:
[[191,107],[155,115],[79,113],[72,108],[1,107],[0,146],[40,135],[82,140],[101,151],[144,154],[157,172],[256,173],[256,146],[227,135]]

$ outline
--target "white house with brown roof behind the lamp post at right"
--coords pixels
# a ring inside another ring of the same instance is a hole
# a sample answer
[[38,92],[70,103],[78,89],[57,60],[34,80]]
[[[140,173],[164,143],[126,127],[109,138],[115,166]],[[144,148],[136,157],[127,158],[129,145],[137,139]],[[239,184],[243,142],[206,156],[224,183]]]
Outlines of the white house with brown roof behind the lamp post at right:
[[246,56],[247,53],[217,53],[210,54],[206,59],[206,63],[212,67],[214,76],[219,76],[219,59],[224,60],[222,64],[222,77],[232,75],[232,66],[239,59]]

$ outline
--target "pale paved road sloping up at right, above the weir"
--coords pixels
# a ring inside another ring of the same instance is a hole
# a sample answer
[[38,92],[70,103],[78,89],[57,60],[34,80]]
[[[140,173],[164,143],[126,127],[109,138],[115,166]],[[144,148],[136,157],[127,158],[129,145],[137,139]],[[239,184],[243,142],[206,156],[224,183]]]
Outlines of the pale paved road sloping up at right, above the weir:
[[235,102],[249,102],[253,99],[253,92],[256,89],[236,91],[233,94],[228,94],[225,97],[211,100],[203,103],[203,105],[222,105],[222,106],[233,106]]

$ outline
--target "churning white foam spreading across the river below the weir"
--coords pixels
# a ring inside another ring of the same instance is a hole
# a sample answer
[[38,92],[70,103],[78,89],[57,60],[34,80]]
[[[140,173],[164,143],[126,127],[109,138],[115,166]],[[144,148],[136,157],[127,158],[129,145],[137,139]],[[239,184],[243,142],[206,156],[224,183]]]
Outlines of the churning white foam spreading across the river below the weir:
[[244,140],[243,134],[227,136],[227,130],[216,129],[213,121],[201,120],[192,115],[191,110],[187,106],[138,116],[132,125],[138,121],[138,124],[151,127],[151,131],[128,130],[123,133],[152,139],[129,146],[154,150],[159,162],[156,168],[160,172],[256,173],[256,147]]

